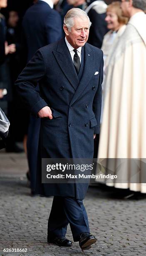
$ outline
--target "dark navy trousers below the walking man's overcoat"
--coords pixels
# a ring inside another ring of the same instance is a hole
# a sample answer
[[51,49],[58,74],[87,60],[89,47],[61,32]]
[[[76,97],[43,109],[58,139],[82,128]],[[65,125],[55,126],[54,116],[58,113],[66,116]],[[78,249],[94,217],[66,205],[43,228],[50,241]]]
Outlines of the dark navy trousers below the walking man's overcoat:
[[80,233],[89,232],[88,217],[83,200],[54,196],[48,220],[48,237],[65,236],[68,224],[74,242],[79,241]]

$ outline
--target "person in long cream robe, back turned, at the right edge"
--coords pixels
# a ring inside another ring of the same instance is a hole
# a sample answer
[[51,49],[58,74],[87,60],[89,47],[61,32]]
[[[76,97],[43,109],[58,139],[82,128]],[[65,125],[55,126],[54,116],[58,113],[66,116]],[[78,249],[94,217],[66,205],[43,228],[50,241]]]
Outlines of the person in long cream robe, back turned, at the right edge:
[[121,0],[121,9],[130,19],[106,72],[99,169],[117,175],[109,186],[146,193],[146,0]]

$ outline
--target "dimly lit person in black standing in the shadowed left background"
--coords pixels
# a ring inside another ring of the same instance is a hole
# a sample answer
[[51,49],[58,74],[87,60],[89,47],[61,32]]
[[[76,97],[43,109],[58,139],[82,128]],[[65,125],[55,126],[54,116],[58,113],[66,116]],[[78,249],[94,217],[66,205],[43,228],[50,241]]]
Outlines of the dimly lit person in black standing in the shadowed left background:
[[[23,148],[17,145],[18,134],[22,132],[20,118],[20,106],[15,92],[15,80],[20,73],[20,30],[18,26],[19,16],[15,10],[10,10],[7,18],[6,40],[7,44],[15,46],[15,52],[7,55],[7,68],[9,69],[11,97],[7,100],[7,116],[10,120],[10,136],[6,140],[6,152],[21,153]],[[24,118],[24,115],[23,115]]]

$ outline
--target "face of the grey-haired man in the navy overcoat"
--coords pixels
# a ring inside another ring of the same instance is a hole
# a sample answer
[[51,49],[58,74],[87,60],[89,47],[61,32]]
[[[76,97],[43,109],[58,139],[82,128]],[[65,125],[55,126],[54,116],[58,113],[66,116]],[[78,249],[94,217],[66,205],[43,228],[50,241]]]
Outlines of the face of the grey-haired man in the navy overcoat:
[[74,49],[84,46],[89,36],[89,20],[84,16],[74,18],[74,26],[71,28],[71,31],[66,26],[64,26],[64,31],[67,41]]

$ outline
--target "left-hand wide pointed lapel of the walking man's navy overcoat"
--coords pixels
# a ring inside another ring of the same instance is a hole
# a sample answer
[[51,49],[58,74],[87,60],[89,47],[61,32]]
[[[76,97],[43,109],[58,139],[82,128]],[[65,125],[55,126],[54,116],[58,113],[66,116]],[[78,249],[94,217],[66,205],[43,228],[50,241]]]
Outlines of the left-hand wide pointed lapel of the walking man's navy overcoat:
[[57,51],[53,51],[53,54],[62,72],[67,77],[74,90],[76,90],[79,84],[79,78],[64,38],[59,41]]

